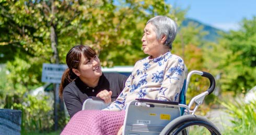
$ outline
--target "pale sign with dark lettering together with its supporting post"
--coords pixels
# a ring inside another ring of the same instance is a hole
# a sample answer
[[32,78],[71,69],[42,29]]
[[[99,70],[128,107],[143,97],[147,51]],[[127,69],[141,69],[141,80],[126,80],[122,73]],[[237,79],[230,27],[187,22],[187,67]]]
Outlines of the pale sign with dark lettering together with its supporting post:
[[66,64],[49,64],[43,63],[42,69],[42,82],[54,84],[54,129],[58,129],[58,106],[60,102],[59,98],[59,86],[63,72],[67,69]]

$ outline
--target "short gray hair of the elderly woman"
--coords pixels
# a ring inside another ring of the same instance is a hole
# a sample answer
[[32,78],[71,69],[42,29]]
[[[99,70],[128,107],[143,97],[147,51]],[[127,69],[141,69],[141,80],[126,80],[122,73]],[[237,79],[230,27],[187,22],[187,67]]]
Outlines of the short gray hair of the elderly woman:
[[166,41],[164,45],[172,49],[172,42],[174,41],[177,34],[177,24],[167,16],[156,16],[147,21],[155,26],[155,32],[157,39],[161,39],[163,35],[166,35]]

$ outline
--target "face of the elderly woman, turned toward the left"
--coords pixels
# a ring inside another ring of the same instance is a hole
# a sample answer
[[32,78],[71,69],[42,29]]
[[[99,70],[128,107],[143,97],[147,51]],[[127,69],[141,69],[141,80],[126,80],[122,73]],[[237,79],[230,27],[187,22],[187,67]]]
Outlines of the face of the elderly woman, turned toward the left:
[[157,58],[161,54],[162,44],[160,40],[157,40],[156,32],[154,31],[154,25],[148,23],[144,28],[144,34],[142,36],[142,49],[144,53]]

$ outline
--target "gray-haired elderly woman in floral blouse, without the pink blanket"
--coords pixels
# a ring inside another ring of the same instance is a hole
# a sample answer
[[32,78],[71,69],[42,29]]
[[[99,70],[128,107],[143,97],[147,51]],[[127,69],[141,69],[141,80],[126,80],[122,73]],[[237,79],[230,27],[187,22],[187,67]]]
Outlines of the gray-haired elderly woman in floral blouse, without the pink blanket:
[[123,92],[105,110],[123,110],[127,103],[136,98],[179,101],[185,79],[185,64],[170,52],[176,32],[176,23],[168,17],[157,16],[147,22],[142,48],[149,56],[136,62]]

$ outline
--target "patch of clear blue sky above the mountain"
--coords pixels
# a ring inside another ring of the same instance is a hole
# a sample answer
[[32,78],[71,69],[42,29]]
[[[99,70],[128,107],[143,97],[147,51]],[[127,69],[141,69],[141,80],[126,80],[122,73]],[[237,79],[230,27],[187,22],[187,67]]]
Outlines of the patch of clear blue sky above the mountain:
[[225,31],[237,30],[243,18],[256,16],[256,0],[168,0],[167,3],[182,9],[189,7],[186,17]]

